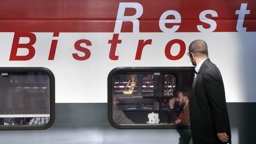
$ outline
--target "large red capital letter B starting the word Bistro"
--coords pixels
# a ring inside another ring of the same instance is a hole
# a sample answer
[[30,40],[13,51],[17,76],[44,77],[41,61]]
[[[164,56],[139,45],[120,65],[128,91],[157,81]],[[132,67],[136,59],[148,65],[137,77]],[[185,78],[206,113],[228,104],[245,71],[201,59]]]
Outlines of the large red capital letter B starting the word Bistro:
[[[27,37],[30,41],[27,44],[20,44],[20,38]],[[36,50],[32,46],[36,43],[36,35],[31,32],[15,32],[12,42],[12,49],[10,53],[9,60],[30,60],[34,57]],[[26,56],[17,56],[18,48],[28,49],[28,54]]]

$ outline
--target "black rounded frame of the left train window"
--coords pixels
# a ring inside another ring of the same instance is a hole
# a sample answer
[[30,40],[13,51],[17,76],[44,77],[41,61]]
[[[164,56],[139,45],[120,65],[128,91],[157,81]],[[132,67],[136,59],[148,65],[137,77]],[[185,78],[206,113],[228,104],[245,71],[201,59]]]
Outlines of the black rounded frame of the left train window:
[[52,126],[55,120],[55,78],[54,74],[44,67],[0,67],[0,72],[43,72],[50,78],[50,120],[44,125],[0,125],[0,130],[45,130]]

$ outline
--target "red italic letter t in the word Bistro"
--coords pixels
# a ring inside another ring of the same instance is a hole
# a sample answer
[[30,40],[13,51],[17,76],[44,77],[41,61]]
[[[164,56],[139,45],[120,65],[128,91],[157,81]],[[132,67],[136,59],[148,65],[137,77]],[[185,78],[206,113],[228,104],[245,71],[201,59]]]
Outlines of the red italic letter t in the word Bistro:
[[121,44],[122,40],[118,40],[119,34],[113,34],[112,40],[108,40],[108,44],[111,44],[109,58],[110,60],[118,60],[118,56],[116,56],[116,46],[117,44]]

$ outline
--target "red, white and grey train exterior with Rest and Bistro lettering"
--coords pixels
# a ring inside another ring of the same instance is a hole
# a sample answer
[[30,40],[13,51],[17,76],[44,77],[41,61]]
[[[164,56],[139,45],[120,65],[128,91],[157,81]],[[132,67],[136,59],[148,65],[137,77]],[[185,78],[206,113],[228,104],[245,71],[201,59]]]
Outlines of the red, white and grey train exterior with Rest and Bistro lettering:
[[[254,0],[16,0],[0,2],[0,67],[45,67],[55,77],[55,122],[4,130],[4,143],[182,143],[190,129],[116,129],[108,74],[117,67],[191,67],[202,39],[222,73],[233,144],[256,124]],[[183,137],[185,136],[185,137]]]

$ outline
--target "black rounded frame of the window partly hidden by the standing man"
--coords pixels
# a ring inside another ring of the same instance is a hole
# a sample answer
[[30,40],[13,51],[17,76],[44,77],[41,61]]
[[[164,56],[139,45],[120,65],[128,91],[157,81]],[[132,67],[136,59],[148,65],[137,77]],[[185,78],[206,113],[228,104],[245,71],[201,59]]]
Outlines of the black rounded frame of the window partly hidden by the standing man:
[[194,67],[116,67],[108,74],[108,122],[117,129],[190,129],[190,124],[117,124],[112,117],[114,76],[125,72],[194,72]]

